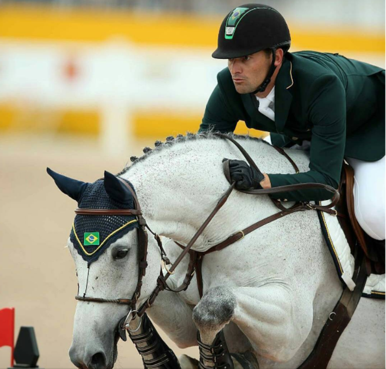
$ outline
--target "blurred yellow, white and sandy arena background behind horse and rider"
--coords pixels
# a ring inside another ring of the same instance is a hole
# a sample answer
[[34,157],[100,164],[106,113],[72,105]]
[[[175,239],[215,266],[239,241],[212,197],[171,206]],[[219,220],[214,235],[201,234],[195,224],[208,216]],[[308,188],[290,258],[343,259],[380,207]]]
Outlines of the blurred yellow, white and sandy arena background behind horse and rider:
[[[286,18],[290,51],[385,67],[384,0],[265,3]],[[16,337],[19,326],[35,327],[40,367],[72,368],[77,287],[64,249],[76,204],[45,168],[93,182],[155,139],[196,131],[226,66],[210,56],[219,25],[240,4],[0,0],[0,309],[16,308]],[[243,123],[237,132],[247,132]],[[0,368],[8,365],[0,348]],[[131,343],[119,344],[116,367],[141,368]]]

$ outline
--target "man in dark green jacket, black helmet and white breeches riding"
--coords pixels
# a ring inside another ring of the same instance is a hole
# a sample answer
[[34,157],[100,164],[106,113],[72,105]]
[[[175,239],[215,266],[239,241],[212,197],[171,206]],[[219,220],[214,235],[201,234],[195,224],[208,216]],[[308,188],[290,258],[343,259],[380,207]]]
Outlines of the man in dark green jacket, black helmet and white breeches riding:
[[[272,144],[309,146],[310,170],[257,172],[231,160],[236,188],[322,183],[338,188],[343,159],[355,170],[355,213],[385,244],[385,70],[344,56],[289,53],[283,16],[262,4],[240,5],[220,26],[212,57],[228,59],[206,105],[199,131],[233,132],[239,120],[270,132]],[[271,195],[284,201],[323,200],[323,189]]]

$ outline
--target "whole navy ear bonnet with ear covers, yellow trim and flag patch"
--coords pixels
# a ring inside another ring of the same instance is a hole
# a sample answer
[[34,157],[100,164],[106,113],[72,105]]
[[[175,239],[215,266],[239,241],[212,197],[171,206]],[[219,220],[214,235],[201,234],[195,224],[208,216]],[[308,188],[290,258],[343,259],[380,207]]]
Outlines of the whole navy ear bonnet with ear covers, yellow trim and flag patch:
[[[80,209],[134,209],[134,198],[113,174],[105,172],[105,178],[85,183],[62,176],[47,168],[59,189],[78,201]],[[133,185],[124,179],[133,190]],[[70,240],[78,254],[90,265],[116,240],[138,228],[135,215],[80,215],[72,225]]]

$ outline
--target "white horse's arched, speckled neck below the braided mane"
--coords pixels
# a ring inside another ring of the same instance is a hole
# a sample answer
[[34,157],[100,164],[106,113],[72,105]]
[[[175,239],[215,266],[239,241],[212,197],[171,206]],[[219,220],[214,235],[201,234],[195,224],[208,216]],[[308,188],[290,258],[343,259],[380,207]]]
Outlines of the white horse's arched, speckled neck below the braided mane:
[[[288,161],[265,143],[240,143],[263,172],[290,172]],[[224,140],[192,140],[151,154],[123,177],[134,185],[150,227],[186,244],[229,186],[223,175],[224,157],[244,159],[233,144]],[[203,251],[273,212],[268,196],[246,198],[233,191],[193,249]]]

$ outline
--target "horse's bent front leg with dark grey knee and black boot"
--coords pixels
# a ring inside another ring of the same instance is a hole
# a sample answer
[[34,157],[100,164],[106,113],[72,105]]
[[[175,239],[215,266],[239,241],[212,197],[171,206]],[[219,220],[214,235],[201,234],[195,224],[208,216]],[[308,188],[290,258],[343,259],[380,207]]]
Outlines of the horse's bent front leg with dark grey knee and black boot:
[[299,304],[299,297],[280,285],[208,290],[193,310],[199,330],[202,367],[231,369],[222,329],[235,323],[258,356],[286,362],[298,351],[312,326],[312,304]]

